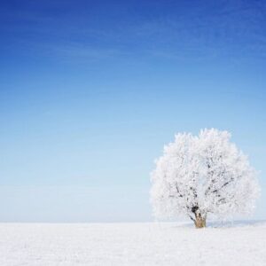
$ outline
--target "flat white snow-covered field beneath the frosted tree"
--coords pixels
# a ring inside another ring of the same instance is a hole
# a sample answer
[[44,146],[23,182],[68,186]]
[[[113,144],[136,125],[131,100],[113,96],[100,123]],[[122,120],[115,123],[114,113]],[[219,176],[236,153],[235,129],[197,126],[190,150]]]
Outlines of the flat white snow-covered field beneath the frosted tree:
[[266,223],[0,223],[0,265],[266,265]]

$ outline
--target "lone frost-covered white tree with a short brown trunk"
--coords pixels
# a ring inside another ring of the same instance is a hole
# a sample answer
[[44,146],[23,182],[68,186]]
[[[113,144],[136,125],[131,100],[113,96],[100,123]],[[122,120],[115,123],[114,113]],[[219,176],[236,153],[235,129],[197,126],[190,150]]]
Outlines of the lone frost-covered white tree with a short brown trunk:
[[256,173],[230,137],[227,131],[203,129],[199,136],[179,133],[164,147],[151,174],[155,216],[187,215],[202,228],[207,215],[226,217],[254,209]]

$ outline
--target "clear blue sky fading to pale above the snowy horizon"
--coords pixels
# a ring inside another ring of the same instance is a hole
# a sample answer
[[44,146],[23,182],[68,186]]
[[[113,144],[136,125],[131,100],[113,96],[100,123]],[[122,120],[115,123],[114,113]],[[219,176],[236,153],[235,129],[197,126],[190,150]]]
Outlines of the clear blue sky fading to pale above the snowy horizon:
[[261,172],[266,218],[264,1],[9,0],[0,20],[0,221],[151,221],[153,160],[210,127]]

